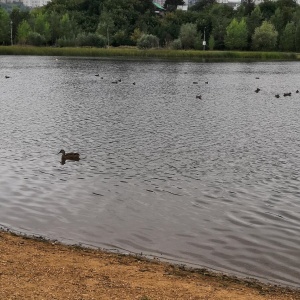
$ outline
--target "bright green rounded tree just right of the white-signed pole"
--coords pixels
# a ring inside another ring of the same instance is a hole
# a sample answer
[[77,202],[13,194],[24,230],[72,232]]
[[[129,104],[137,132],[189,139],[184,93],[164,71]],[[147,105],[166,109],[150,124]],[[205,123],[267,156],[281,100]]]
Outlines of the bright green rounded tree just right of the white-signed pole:
[[247,47],[247,25],[243,18],[240,22],[233,19],[226,28],[226,36],[224,39],[225,46],[228,49],[245,49]]

